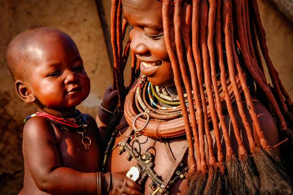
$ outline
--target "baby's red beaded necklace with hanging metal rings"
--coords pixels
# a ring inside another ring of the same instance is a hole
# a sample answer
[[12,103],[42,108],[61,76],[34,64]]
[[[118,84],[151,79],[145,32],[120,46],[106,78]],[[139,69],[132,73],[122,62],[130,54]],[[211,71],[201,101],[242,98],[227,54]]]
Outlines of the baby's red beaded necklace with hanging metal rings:
[[70,120],[68,120],[66,118],[62,118],[62,117],[56,117],[54,115],[51,115],[51,114],[43,112],[43,111],[38,111],[35,114],[27,116],[23,122],[26,123],[26,121],[28,119],[30,119],[34,116],[42,116],[42,117],[48,118],[52,122],[60,124],[62,126],[75,128],[77,133],[81,134],[81,136],[82,136],[81,143],[84,145],[84,148],[86,150],[89,150],[89,146],[91,145],[92,141],[89,137],[85,136],[85,131],[86,131],[85,127],[87,126],[86,116],[81,114],[78,110],[75,110],[75,112],[79,115],[74,118],[74,121],[70,121]]

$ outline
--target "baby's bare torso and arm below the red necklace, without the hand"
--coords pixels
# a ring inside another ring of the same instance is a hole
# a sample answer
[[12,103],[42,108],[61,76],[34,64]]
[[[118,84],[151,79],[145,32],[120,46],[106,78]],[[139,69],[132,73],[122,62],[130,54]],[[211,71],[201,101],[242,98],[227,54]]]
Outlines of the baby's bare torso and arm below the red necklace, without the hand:
[[89,150],[75,129],[60,129],[40,116],[27,121],[23,129],[24,185],[19,194],[94,194],[101,138],[91,116],[87,116],[87,124],[85,135],[92,140]]

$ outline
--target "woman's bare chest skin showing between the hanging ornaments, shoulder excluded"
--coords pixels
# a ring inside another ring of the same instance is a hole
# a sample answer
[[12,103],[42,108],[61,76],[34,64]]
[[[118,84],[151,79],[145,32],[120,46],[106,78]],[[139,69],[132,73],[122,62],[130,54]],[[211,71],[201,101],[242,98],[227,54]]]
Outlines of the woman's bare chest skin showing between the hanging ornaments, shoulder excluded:
[[[116,138],[115,144],[120,143],[124,138],[118,137]],[[149,151],[155,156],[155,166],[153,167],[154,171],[158,176],[166,181],[167,174],[172,172],[175,169],[175,164],[179,164],[178,161],[176,163],[172,163],[172,160],[175,159],[183,159],[179,161],[183,161],[185,165],[187,165],[187,156],[182,155],[185,153],[186,143],[185,139],[174,139],[169,141],[170,149],[167,149],[166,143],[155,141],[153,139],[147,138],[145,136],[139,137],[139,142],[141,143],[141,154]],[[132,143],[132,142],[131,142]],[[130,144],[131,145],[131,144]],[[135,143],[135,148],[138,149],[138,145]],[[168,154],[169,151],[169,154]],[[111,164],[111,172],[128,172],[131,167],[137,165],[137,160],[132,158],[130,161],[127,160],[128,152],[124,151],[123,153],[119,154],[119,147],[117,147],[113,152],[112,156],[110,157],[109,163]],[[173,155],[174,158],[169,157]],[[153,193],[149,186],[151,184],[151,179],[148,177],[147,181],[145,182],[145,191],[144,194]],[[187,190],[187,180],[186,179],[179,179],[176,181],[171,188],[168,190],[169,194],[185,194]]]

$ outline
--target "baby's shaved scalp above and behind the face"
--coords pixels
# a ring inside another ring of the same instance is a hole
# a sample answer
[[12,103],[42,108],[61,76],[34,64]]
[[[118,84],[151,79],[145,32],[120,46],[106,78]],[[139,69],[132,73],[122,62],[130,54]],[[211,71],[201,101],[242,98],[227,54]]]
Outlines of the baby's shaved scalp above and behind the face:
[[[67,34],[52,27],[35,27],[18,34],[9,43],[6,51],[6,60],[9,71],[14,80],[23,79],[25,66],[32,56],[30,56],[31,46],[42,44],[43,40],[66,37],[72,40]],[[45,44],[45,42],[44,42]]]

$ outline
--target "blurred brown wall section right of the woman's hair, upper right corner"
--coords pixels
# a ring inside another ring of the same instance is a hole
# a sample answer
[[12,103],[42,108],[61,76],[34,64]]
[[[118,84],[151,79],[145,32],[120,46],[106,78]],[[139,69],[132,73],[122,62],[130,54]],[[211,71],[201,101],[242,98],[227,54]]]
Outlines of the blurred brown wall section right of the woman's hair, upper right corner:
[[293,97],[293,25],[273,4],[266,0],[257,2],[262,25],[267,34],[270,57],[285,88]]

